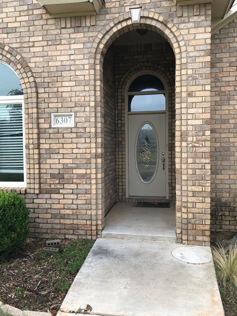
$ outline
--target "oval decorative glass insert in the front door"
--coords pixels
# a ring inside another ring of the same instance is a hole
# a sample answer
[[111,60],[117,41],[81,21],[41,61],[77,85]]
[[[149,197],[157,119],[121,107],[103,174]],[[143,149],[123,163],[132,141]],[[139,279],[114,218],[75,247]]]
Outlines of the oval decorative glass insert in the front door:
[[158,140],[152,125],[142,125],[138,131],[135,148],[138,175],[142,182],[149,183],[154,179],[158,167]]

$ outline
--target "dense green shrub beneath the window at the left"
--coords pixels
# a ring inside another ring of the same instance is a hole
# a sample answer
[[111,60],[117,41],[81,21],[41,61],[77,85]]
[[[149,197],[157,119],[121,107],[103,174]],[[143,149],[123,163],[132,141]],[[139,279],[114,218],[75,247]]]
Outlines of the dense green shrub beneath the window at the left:
[[24,198],[0,191],[0,258],[22,246],[29,232],[28,216]]

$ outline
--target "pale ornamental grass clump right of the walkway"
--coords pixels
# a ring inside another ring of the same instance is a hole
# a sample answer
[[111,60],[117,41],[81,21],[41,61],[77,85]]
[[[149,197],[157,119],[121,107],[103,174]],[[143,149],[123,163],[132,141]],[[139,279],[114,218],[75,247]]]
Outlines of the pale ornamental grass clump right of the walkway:
[[213,248],[216,276],[219,284],[237,287],[237,243],[226,251],[222,244]]

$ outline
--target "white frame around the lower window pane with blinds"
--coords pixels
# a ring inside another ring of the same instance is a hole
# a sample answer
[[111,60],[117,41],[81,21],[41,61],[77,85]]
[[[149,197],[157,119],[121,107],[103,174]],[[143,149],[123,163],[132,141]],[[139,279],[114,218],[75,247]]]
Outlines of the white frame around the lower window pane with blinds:
[[26,139],[25,139],[25,110],[24,110],[24,95],[10,95],[10,96],[0,96],[0,106],[1,104],[15,104],[21,103],[22,105],[22,129],[23,129],[23,174],[24,182],[13,182],[13,181],[0,181],[0,187],[9,188],[25,188],[26,187]]

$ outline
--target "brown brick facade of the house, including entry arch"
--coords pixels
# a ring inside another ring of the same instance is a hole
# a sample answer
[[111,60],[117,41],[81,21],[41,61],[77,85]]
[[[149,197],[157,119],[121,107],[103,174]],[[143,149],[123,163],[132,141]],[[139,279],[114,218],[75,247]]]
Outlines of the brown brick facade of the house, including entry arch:
[[[26,198],[32,236],[100,237],[116,201],[140,200],[126,195],[125,89],[143,72],[167,86],[177,240],[237,230],[237,20],[211,35],[211,3],[190,2],[105,0],[96,15],[55,18],[37,0],[1,2],[0,61],[22,84],[26,148],[26,187],[1,189]],[[129,42],[138,29],[152,42]],[[52,113],[74,113],[75,127],[52,128]]]

